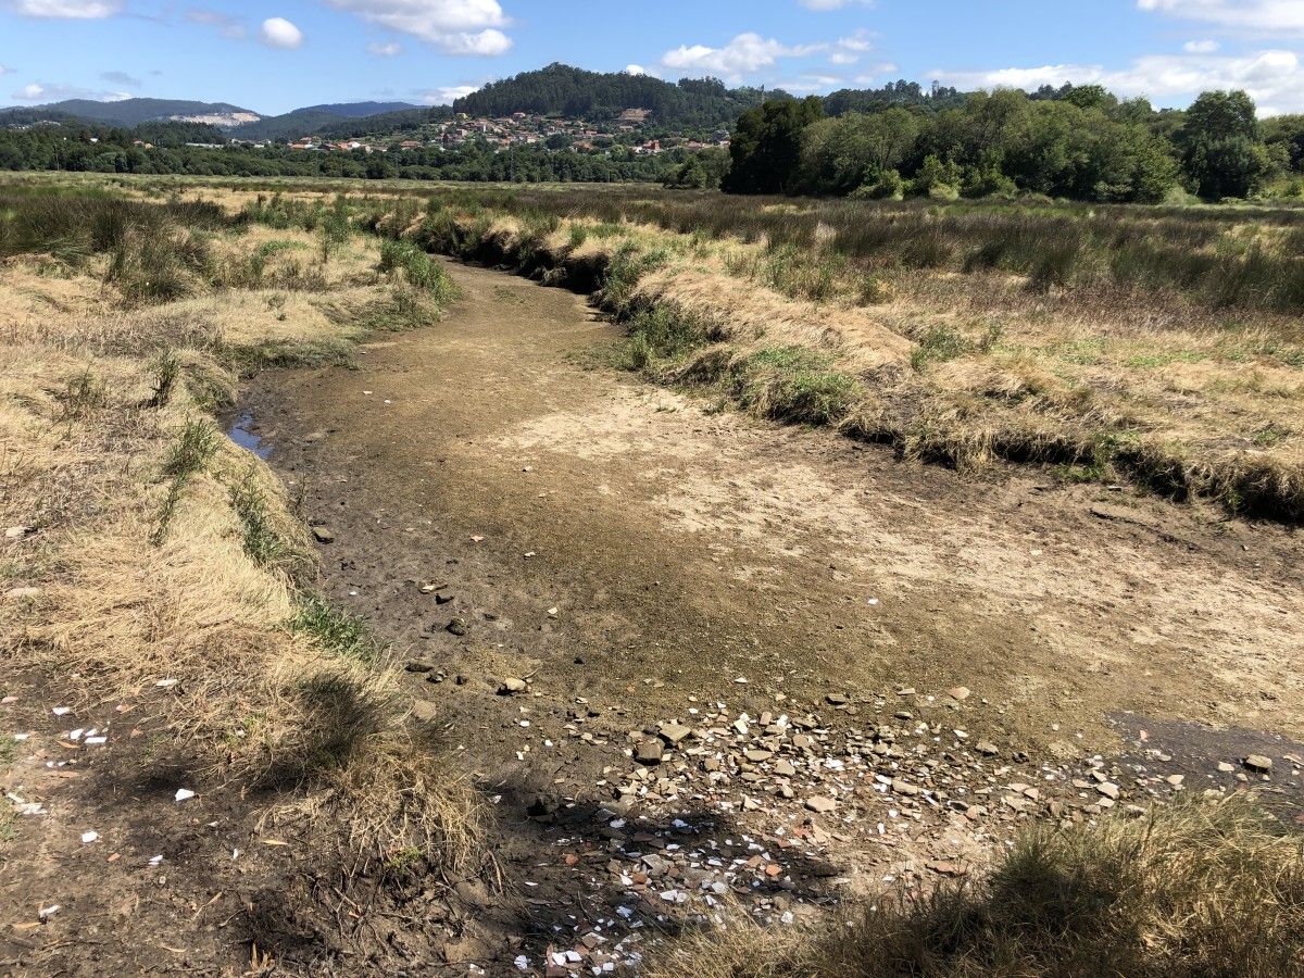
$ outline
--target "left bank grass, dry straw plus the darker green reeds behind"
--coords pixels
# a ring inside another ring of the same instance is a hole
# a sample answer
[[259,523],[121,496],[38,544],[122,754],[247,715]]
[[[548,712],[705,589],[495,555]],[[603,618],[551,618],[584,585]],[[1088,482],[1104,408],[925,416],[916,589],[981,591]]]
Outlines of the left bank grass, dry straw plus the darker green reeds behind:
[[[376,846],[364,861],[400,842],[432,865],[463,858],[469,789],[412,738],[387,649],[316,595],[303,523],[211,415],[253,365],[347,356],[360,331],[323,309],[394,301],[379,243],[351,222],[344,235],[338,203],[273,230],[179,200],[0,200],[5,507],[42,528],[7,553],[12,587],[40,591],[0,605],[8,661],[143,702],[167,763],[214,786],[270,789],[287,810],[310,790],[329,818],[306,831]],[[306,263],[322,295],[286,288]],[[395,327],[386,309],[396,327],[437,317],[450,295],[442,269],[404,269],[394,288],[420,291],[420,313],[385,306],[376,329]]]

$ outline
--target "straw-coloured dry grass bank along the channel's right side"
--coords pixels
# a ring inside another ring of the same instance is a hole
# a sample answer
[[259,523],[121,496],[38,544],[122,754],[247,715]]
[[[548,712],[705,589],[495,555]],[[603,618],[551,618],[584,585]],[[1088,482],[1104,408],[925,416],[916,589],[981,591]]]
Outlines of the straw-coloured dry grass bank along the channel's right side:
[[[499,210],[452,214],[455,240],[434,231],[437,246],[605,282],[608,305],[631,318],[632,364],[661,378],[724,382],[762,413],[831,421],[906,456],[1054,463],[1304,519],[1304,336],[1290,317],[1114,287],[1034,292],[996,271],[870,280],[819,240],[771,250],[631,222],[576,216],[544,233]],[[681,327],[648,333],[649,308]],[[833,416],[798,403],[808,376],[747,396],[754,359],[788,349],[823,357],[827,382],[854,381]],[[785,391],[797,402],[776,404]]]

